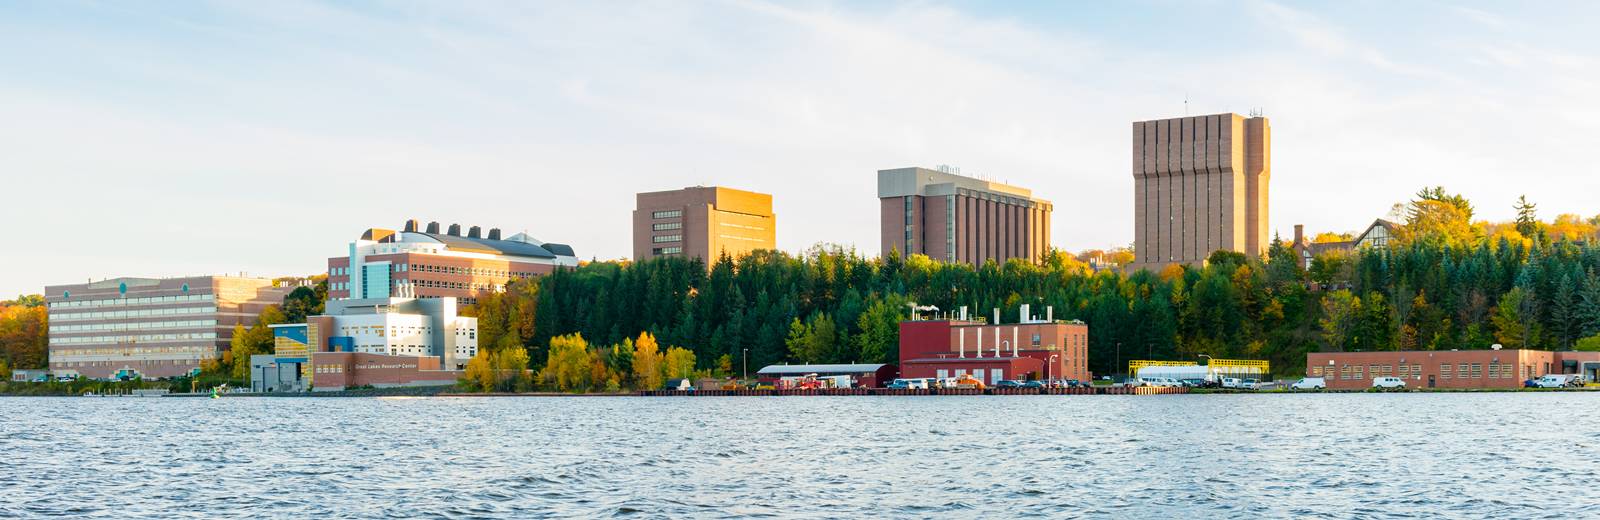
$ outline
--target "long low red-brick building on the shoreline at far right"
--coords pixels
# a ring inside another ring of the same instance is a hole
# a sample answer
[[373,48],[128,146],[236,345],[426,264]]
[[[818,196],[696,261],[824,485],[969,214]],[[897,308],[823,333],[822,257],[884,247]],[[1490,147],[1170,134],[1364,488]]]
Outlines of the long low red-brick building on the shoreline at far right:
[[1373,378],[1400,378],[1413,389],[1515,389],[1544,374],[1595,381],[1600,352],[1549,350],[1390,350],[1312,352],[1306,376],[1330,389],[1366,389]]

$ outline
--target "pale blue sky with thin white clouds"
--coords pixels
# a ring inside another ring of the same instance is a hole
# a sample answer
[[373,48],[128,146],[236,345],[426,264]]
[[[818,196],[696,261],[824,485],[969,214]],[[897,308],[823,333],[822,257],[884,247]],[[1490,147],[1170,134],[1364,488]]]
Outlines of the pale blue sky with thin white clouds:
[[878,254],[877,170],[1133,242],[1138,120],[1259,110],[1270,227],[1424,186],[1600,213],[1592,2],[0,2],[0,298],[310,275],[405,219],[630,254],[634,194],[773,194]]

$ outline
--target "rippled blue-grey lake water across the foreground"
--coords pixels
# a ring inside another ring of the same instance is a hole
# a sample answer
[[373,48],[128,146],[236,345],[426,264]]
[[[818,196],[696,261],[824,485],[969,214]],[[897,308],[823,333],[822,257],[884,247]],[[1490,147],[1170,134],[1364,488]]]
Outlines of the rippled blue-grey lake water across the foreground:
[[1594,517],[1600,395],[0,398],[0,517]]

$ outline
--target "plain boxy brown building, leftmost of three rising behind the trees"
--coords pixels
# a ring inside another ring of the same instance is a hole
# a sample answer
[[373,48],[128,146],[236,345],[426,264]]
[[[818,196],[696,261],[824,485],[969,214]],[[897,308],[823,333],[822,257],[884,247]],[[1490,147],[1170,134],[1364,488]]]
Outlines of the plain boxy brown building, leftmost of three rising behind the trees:
[[776,250],[773,195],[731,187],[685,187],[638,194],[634,259],[691,256],[706,262],[728,253]]

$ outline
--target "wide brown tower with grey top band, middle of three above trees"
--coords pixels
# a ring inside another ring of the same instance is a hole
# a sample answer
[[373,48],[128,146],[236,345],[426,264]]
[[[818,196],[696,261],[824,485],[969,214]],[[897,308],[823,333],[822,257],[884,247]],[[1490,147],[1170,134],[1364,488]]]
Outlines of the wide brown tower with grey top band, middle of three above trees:
[[878,170],[883,254],[982,264],[1038,261],[1050,246],[1048,200],[1024,187],[928,168]]

